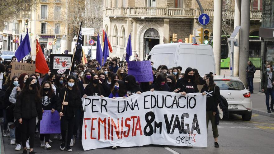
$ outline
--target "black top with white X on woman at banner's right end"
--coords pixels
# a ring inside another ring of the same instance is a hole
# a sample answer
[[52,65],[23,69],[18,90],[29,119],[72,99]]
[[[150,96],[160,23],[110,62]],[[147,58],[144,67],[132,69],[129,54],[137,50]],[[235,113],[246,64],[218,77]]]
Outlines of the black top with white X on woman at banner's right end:
[[217,106],[221,101],[220,88],[215,86],[214,89],[209,91],[208,86],[203,86],[201,92],[206,93],[206,110],[217,112]]

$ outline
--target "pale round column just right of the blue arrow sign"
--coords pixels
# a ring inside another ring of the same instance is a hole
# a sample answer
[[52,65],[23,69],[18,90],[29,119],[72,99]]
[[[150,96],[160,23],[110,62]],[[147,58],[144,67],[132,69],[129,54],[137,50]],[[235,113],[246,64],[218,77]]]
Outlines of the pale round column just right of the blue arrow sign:
[[220,75],[221,35],[222,35],[222,0],[214,0],[213,19],[213,52],[215,57],[216,75]]

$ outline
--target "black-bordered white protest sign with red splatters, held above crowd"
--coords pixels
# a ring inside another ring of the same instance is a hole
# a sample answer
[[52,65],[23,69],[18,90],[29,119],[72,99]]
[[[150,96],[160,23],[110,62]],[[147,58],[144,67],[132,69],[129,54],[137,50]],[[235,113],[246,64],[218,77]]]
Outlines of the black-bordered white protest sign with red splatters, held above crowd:
[[72,64],[72,56],[73,56],[72,54],[51,54],[50,55],[51,73],[68,74],[69,68]]

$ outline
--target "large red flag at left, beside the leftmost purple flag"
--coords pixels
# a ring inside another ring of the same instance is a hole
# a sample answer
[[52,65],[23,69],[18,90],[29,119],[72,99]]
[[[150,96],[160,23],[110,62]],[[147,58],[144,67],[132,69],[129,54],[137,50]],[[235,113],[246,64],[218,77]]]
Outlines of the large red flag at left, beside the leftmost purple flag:
[[42,74],[46,74],[50,71],[48,64],[46,62],[46,59],[44,57],[44,54],[42,52],[41,46],[36,39],[36,58],[35,58],[35,72],[39,72]]

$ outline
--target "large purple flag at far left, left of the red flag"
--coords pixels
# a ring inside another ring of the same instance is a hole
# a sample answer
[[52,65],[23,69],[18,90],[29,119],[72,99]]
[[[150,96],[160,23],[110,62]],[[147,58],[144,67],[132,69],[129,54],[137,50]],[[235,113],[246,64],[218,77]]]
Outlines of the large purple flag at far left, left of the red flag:
[[26,55],[28,55],[31,52],[31,44],[30,44],[30,38],[29,33],[27,29],[27,34],[20,43],[19,47],[15,51],[15,57],[19,60],[23,59]]

